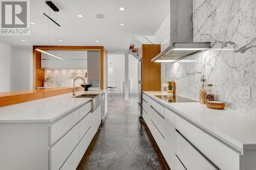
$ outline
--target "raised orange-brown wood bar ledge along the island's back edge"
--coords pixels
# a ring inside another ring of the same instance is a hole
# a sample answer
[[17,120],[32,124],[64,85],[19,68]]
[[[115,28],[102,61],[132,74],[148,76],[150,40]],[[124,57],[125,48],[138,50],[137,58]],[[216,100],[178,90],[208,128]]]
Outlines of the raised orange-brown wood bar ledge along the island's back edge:
[[[76,90],[82,90],[82,87],[76,87]],[[22,102],[28,102],[41,98],[48,98],[54,95],[70,93],[73,87],[57,87],[49,89],[36,89],[24,91],[11,91],[0,93],[0,107],[13,105]]]

